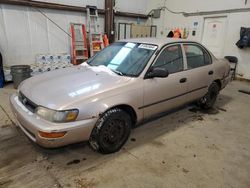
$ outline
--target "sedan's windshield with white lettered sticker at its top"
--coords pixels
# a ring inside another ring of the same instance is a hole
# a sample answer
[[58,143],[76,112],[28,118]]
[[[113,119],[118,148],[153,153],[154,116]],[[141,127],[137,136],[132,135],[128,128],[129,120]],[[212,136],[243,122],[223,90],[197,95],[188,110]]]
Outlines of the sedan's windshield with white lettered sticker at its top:
[[151,44],[117,42],[88,60],[91,66],[104,65],[121,76],[138,76],[157,46]]

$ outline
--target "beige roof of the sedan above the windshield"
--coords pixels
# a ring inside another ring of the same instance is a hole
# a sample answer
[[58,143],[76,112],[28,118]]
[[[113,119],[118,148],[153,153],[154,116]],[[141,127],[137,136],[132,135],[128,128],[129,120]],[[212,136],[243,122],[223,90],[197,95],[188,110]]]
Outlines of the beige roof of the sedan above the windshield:
[[119,40],[120,42],[135,42],[135,43],[146,43],[146,44],[154,44],[158,45],[159,47],[173,43],[173,42],[196,42],[190,41],[186,39],[179,39],[179,38],[132,38],[132,39],[122,39]]

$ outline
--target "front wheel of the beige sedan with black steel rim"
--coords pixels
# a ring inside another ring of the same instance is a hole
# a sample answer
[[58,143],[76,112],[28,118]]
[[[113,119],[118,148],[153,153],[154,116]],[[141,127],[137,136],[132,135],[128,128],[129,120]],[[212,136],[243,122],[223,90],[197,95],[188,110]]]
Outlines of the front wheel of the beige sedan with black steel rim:
[[117,152],[128,140],[131,132],[131,117],[119,108],[105,112],[92,130],[89,143],[103,154]]

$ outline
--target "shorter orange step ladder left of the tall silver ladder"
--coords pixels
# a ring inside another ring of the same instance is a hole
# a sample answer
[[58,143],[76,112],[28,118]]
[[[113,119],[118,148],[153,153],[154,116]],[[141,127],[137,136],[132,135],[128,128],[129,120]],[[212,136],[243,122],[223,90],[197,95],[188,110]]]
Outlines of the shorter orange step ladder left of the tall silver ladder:
[[70,30],[72,64],[79,65],[89,58],[86,28],[84,24],[71,23]]

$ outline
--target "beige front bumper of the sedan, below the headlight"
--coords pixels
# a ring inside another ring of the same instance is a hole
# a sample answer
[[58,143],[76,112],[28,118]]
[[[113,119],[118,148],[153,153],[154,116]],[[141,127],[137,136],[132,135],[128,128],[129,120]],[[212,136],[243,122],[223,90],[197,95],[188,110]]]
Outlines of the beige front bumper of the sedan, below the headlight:
[[[70,123],[53,123],[46,121],[29,111],[18,100],[17,94],[13,94],[10,97],[10,104],[22,131],[32,141],[46,148],[55,148],[88,140],[97,121],[97,118]],[[38,131],[48,133],[65,131],[66,134],[60,138],[44,138],[39,135]]]

